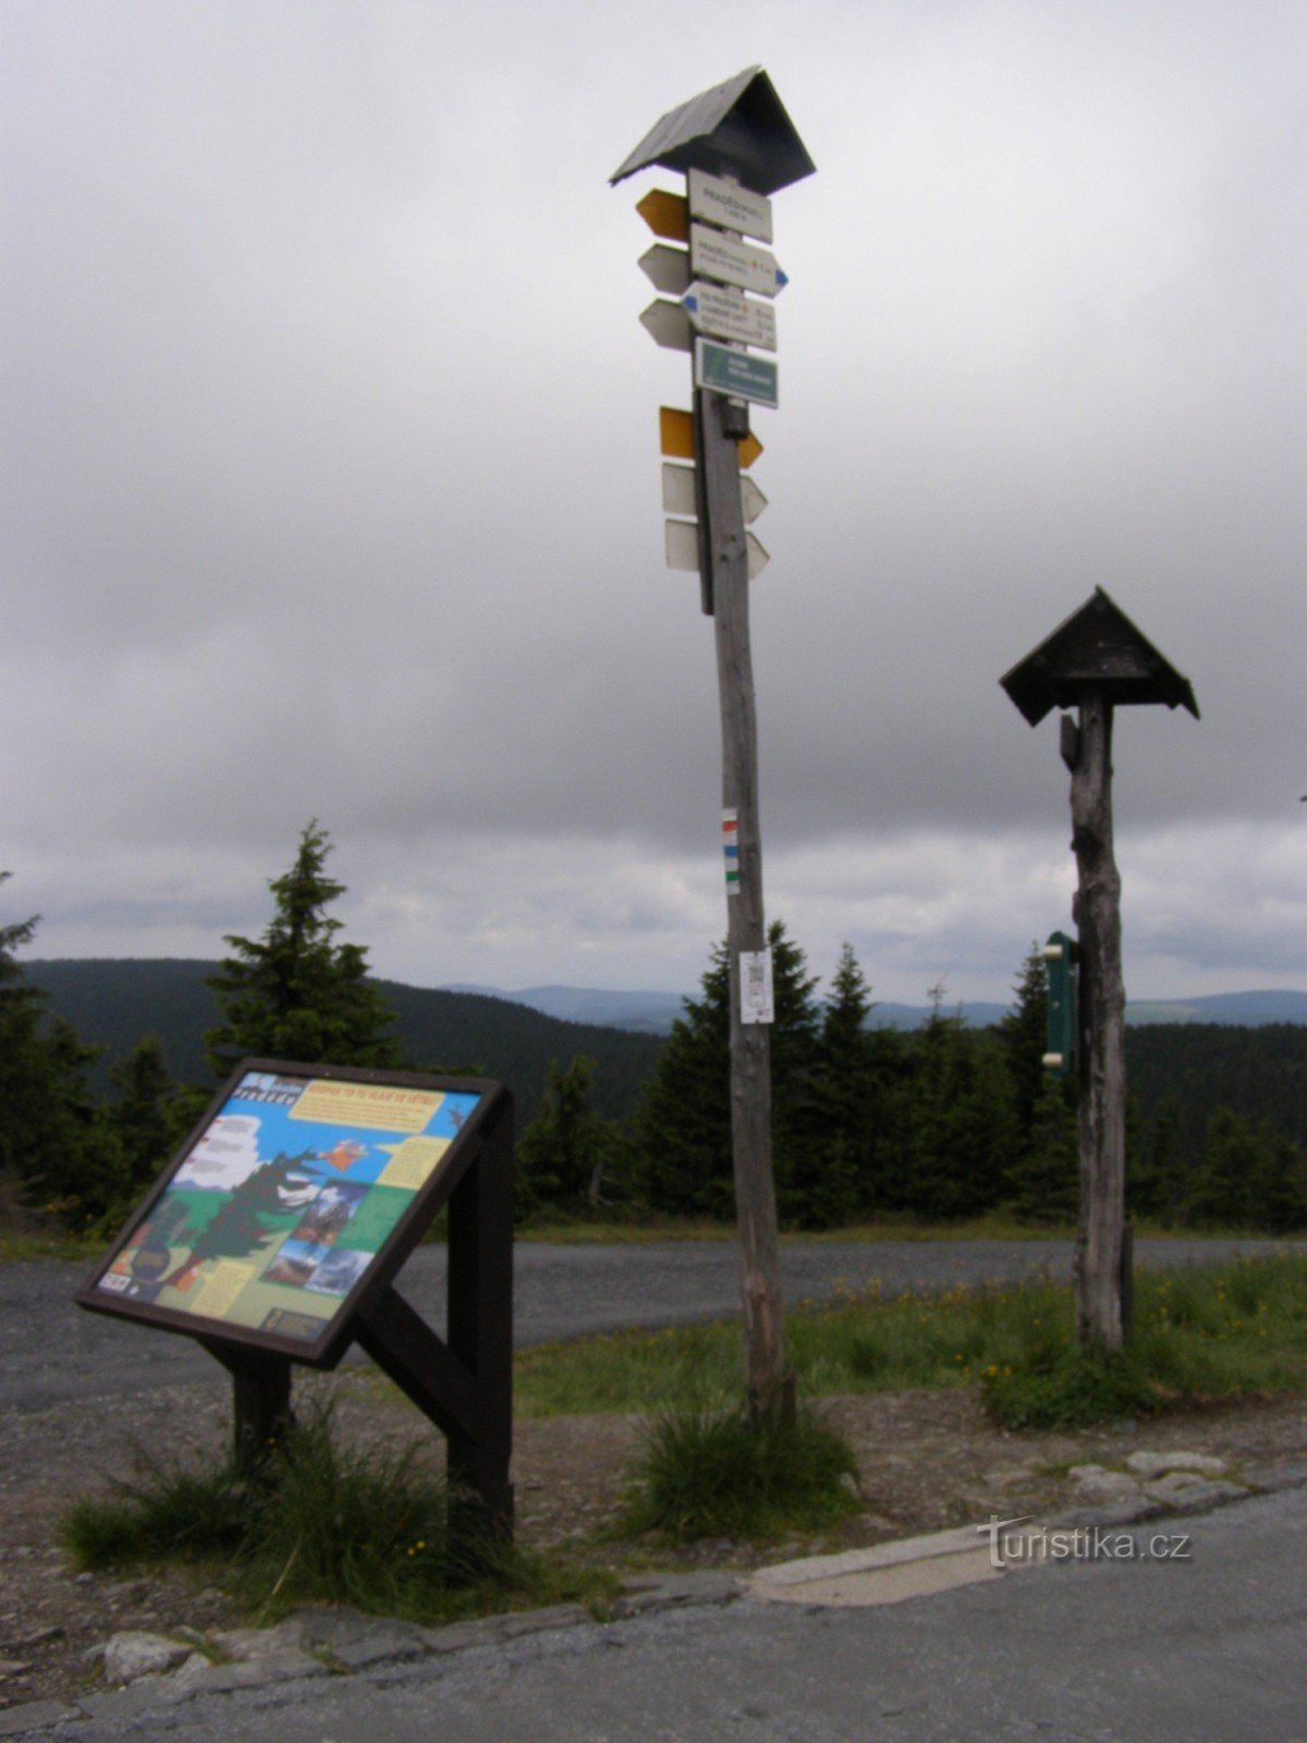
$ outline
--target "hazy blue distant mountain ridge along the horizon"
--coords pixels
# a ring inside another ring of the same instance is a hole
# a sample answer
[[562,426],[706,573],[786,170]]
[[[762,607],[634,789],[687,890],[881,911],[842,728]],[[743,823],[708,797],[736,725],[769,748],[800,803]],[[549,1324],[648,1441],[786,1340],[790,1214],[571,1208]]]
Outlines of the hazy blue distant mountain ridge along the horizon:
[[[638,1034],[666,1035],[681,1014],[683,994],[676,992],[615,992],[606,987],[446,987],[444,992],[477,994],[486,999],[507,999],[532,1011],[559,1018],[566,1023],[601,1023],[612,1028],[629,1028]],[[958,1011],[964,1023],[985,1028],[1000,1021],[1011,1006],[976,1000],[974,1004],[945,1004],[945,1011]],[[929,1006],[877,1002],[871,1021],[880,1028],[920,1028],[931,1020]],[[1126,1006],[1128,1023],[1230,1023],[1241,1028],[1260,1028],[1265,1023],[1307,1023],[1307,992],[1218,992],[1197,999],[1140,999]]]

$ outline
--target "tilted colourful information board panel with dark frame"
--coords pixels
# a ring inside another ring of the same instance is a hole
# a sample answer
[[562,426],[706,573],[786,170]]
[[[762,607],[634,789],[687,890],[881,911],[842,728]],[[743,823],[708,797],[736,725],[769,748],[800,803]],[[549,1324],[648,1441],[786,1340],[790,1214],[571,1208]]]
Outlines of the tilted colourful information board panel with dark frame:
[[247,1060],[78,1293],[329,1365],[462,1175],[498,1084]]

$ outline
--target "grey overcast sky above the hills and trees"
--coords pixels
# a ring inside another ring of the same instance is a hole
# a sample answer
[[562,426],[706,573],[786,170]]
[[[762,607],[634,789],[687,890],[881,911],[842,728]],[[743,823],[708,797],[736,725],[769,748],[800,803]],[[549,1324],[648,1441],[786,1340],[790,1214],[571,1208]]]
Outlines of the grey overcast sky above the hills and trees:
[[1302,0],[0,0],[0,924],[218,957],[317,817],[415,985],[690,990],[713,626],[638,315],[669,108],[767,68],[781,408],[753,582],[769,917],[885,999],[1070,922],[1103,586],[1134,999],[1307,985]]

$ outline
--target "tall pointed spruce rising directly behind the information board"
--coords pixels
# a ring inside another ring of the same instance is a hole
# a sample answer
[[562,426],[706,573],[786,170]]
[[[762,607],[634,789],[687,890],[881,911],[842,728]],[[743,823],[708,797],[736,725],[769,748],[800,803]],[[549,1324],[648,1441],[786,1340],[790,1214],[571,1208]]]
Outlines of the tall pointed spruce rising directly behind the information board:
[[403,1063],[389,1030],[394,1014],[366,980],[366,950],[336,943],[342,922],[326,910],[345,885],[326,875],[326,830],[310,821],[291,870],[268,884],[275,898],[261,939],[227,936],[227,957],[207,985],[225,1021],[206,1035],[209,1065],[225,1075],[242,1056],[326,1065]]

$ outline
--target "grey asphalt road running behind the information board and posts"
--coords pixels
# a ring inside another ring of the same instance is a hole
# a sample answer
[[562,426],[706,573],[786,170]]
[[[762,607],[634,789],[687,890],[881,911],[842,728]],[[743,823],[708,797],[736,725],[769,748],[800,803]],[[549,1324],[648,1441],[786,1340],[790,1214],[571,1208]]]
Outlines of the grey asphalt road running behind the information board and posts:
[[[1175,1265],[1269,1251],[1270,1241],[1140,1241],[1136,1262]],[[1014,1281],[1051,1271],[1070,1276],[1070,1241],[877,1241],[786,1245],[786,1304],[826,1300],[842,1288],[880,1281],[887,1293],[946,1290],[957,1283]],[[547,1246],[523,1243],[514,1258],[518,1344],[544,1344],[619,1326],[667,1326],[739,1312],[739,1258],[732,1241],[654,1246]],[[38,1410],[78,1398],[183,1386],[218,1373],[188,1337],[73,1304],[85,1267],[0,1265],[0,1408]],[[444,1248],[422,1246],[397,1290],[444,1330]],[[1307,1738],[1307,1726],[1304,1727]]]

